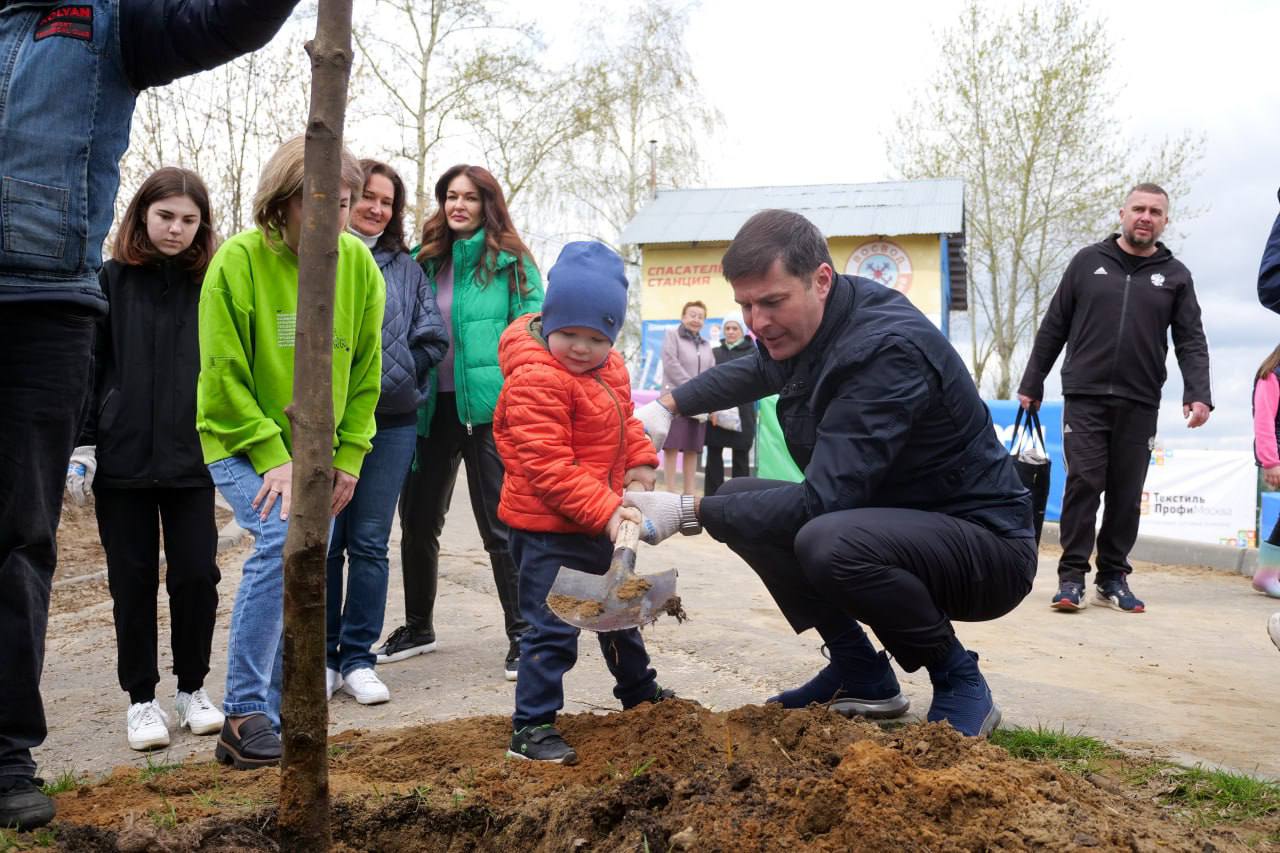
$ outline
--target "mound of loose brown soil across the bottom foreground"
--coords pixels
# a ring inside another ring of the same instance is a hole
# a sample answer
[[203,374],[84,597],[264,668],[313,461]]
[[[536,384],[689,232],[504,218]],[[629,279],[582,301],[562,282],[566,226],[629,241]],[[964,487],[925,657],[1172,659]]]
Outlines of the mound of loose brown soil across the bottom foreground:
[[[1222,830],[945,724],[668,701],[559,720],[575,767],[504,757],[506,717],[330,740],[337,850],[1228,850]],[[274,768],[116,770],[58,797],[70,850],[274,850]]]

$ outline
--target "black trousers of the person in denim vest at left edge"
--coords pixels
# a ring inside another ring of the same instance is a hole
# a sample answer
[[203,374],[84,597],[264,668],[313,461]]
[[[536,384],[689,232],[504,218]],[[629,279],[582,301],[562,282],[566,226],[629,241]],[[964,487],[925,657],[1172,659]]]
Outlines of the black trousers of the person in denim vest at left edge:
[[93,318],[0,305],[0,781],[32,776],[67,461],[88,394]]

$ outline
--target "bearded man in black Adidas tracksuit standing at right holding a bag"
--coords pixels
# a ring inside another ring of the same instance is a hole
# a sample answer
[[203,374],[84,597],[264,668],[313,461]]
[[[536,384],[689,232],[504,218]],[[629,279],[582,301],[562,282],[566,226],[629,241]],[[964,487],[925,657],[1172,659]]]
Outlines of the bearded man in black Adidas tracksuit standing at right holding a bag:
[[1084,576],[1103,492],[1097,601],[1130,613],[1146,608],[1129,589],[1129,549],[1138,538],[1170,329],[1183,373],[1187,425],[1202,425],[1213,407],[1208,345],[1192,274],[1157,242],[1167,223],[1169,193],[1152,183],[1129,192],[1120,209],[1120,233],[1082,248],[1068,264],[1018,388],[1023,409],[1039,406],[1044,377],[1066,345],[1066,491],[1055,610],[1070,612],[1087,603]]

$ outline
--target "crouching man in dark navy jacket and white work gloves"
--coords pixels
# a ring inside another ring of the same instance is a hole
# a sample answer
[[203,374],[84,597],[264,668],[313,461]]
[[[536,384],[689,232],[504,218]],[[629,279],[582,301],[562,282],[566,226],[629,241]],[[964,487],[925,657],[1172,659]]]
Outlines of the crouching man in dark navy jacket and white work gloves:
[[1036,539],[1030,498],[964,364],[906,297],[836,275],[822,233],[797,214],[754,215],[723,266],[756,353],[636,415],[660,443],[673,414],[777,393],[805,479],[733,479],[701,500],[628,492],[645,540],[705,526],[760,575],[797,633],[817,629],[831,663],[771,702],[904,713],[909,703],[864,622],[902,669],[928,669],[931,721],[989,734],[1000,710],[951,620],[1018,606],[1036,574]]

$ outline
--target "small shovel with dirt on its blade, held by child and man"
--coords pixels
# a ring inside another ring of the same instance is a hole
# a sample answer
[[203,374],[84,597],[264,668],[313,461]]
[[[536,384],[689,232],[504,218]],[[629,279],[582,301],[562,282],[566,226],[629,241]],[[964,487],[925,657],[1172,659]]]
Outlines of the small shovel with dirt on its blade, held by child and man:
[[589,631],[640,628],[662,613],[682,617],[675,569],[655,575],[636,574],[639,539],[640,525],[634,521],[618,525],[613,560],[603,575],[561,566],[547,594],[547,606],[570,625]]

